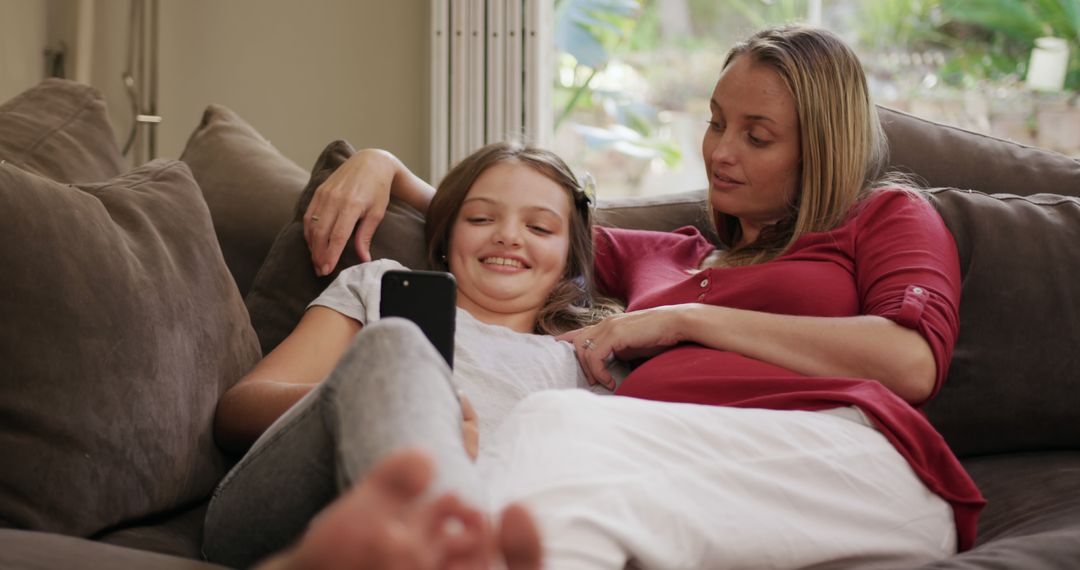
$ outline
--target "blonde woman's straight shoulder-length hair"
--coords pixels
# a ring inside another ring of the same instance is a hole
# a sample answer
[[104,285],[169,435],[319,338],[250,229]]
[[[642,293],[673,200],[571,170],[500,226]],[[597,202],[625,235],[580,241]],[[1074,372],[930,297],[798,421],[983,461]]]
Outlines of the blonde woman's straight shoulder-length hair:
[[[728,52],[727,69],[746,56],[774,70],[798,113],[800,177],[788,215],[757,241],[729,252],[725,264],[759,263],[783,254],[800,236],[839,226],[885,172],[888,142],[854,52],[828,30],[783,26],[751,36]],[[740,238],[734,216],[712,212],[729,247]]]

